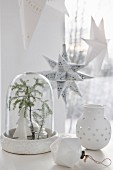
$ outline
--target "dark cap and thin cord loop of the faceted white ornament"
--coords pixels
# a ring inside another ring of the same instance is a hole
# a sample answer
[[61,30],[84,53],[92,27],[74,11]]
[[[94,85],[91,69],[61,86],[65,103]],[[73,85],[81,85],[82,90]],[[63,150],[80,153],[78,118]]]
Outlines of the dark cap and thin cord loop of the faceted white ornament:
[[[105,159],[103,159],[102,161],[97,161],[97,160],[95,160],[92,156],[90,156],[90,155],[85,155],[85,151],[82,151],[82,155],[81,155],[80,158],[81,158],[81,159],[84,159],[84,162],[86,162],[86,160],[89,158],[89,159],[91,159],[92,161],[94,161],[96,164],[101,164],[101,165],[103,165],[103,166],[105,166],[105,167],[110,166],[111,163],[112,163],[112,161],[111,161],[110,158],[105,158]],[[104,163],[105,161],[109,161],[109,164],[105,164],[105,163]]]

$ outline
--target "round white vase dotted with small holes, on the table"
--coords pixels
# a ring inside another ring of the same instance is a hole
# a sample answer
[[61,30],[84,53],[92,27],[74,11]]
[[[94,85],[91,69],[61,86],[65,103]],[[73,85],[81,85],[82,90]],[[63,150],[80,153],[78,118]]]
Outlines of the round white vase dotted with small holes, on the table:
[[86,104],[76,124],[76,135],[87,149],[104,148],[111,138],[110,122],[104,117],[104,106]]

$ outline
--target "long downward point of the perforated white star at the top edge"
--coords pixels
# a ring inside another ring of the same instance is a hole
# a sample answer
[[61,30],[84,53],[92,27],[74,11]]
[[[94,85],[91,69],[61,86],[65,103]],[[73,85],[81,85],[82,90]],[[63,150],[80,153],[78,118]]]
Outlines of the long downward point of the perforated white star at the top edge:
[[46,0],[19,0],[24,47],[28,47]]

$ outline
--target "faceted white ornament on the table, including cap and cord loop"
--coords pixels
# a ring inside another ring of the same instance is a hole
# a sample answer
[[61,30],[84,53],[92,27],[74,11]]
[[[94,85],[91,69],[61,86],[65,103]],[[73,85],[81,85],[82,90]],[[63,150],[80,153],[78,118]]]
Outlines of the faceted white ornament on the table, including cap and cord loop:
[[79,138],[74,138],[69,135],[61,136],[56,139],[50,145],[50,149],[55,163],[69,168],[74,168],[80,159],[83,159],[84,162],[86,162],[88,158],[94,161],[94,163],[104,165],[105,167],[110,166],[112,163],[110,158],[105,158],[102,161],[98,161],[91,155],[86,155],[85,151],[82,151]]

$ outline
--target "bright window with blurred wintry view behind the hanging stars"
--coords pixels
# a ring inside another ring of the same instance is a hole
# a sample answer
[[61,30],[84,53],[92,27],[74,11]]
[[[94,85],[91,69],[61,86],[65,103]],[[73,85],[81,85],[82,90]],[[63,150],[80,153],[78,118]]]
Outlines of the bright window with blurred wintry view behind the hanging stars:
[[[90,80],[77,82],[82,98],[70,91],[67,102],[66,132],[75,132],[76,119],[83,112],[84,103],[105,105],[105,115],[113,119],[113,1],[66,0],[69,17],[65,17],[65,41],[71,62],[83,64],[88,45],[81,38],[89,38],[91,16],[98,25],[104,19],[108,58],[104,59],[101,74]],[[92,62],[93,63],[93,62]],[[93,72],[93,65],[84,73]]]

